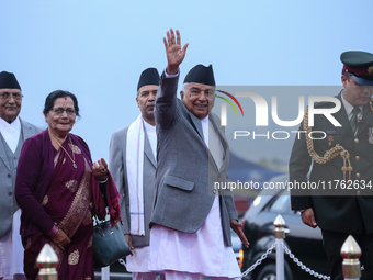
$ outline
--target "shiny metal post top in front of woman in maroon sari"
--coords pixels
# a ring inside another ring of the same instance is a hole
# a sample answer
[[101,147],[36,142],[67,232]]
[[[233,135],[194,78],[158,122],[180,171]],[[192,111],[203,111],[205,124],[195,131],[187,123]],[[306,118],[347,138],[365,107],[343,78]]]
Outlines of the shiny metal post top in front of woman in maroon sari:
[[38,280],[57,280],[58,257],[49,244],[45,244],[36,258],[39,268]]

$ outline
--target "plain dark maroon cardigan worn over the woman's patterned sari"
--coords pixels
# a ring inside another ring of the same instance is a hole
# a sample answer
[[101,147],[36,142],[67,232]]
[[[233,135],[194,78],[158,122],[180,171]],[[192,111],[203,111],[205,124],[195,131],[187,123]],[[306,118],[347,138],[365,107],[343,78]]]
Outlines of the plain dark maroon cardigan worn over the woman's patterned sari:
[[[91,153],[86,142],[77,135],[69,134],[72,142],[81,149],[86,160],[92,168]],[[48,189],[49,181],[54,169],[54,147],[50,143],[48,130],[45,130],[27,138],[22,147],[19,159],[18,172],[15,179],[15,199],[22,209],[21,216],[21,235],[27,236],[37,232],[48,233],[54,221],[44,211],[42,206],[43,198]],[[93,176],[92,176],[93,177]],[[94,178],[94,177],[93,177]],[[92,193],[94,208],[102,216],[104,210],[98,181],[92,178]],[[106,183],[108,206],[112,223],[118,221],[121,210],[118,208],[118,193],[112,179]],[[100,204],[98,205],[97,203]],[[101,205],[101,206],[100,206]]]

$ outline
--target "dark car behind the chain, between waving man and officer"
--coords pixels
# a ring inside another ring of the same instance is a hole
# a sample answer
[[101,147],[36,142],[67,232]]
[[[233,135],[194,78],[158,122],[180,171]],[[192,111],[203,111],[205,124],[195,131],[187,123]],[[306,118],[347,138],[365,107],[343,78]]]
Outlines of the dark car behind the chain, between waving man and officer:
[[[273,178],[272,187],[286,186],[287,175]],[[276,182],[280,182],[276,184]],[[281,184],[283,182],[283,184]],[[268,186],[267,186],[268,187]],[[290,191],[287,189],[264,189],[250,205],[242,219],[244,232],[250,243],[249,249],[244,249],[242,272],[251,267],[268,248],[275,243],[273,221],[281,214],[286,224],[286,247],[306,267],[315,272],[329,275],[329,262],[323,247],[321,231],[303,224],[301,214],[291,210]],[[285,279],[315,279],[297,266],[285,254]],[[275,280],[275,250],[268,255],[261,265],[251,271],[247,279]]]

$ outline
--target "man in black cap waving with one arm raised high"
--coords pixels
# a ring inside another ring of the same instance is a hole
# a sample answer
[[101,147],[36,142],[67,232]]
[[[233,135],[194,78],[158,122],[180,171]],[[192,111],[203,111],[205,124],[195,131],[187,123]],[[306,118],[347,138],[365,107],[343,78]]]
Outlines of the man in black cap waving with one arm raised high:
[[149,269],[165,271],[166,279],[240,278],[229,227],[245,246],[248,242],[231,193],[213,187],[228,180],[229,161],[224,131],[211,113],[215,100],[213,69],[211,65],[192,68],[179,100],[179,65],[188,44],[181,49],[180,33],[176,33],[170,30],[163,38],[168,66],[161,75],[155,109],[158,166]]

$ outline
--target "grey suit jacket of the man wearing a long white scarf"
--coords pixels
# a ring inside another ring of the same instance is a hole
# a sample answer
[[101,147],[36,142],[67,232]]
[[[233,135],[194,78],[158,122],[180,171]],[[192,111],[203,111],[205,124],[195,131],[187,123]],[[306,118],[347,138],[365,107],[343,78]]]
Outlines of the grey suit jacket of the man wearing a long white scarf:
[[[113,133],[110,143],[109,153],[109,169],[116,184],[117,191],[121,193],[121,211],[123,221],[123,233],[129,234],[129,195],[128,181],[126,168],[126,143],[127,143],[128,126]],[[152,209],[152,201],[155,197],[155,173],[156,159],[152,154],[148,135],[145,133],[144,137],[144,221],[145,221],[145,236],[132,235],[132,243],[134,247],[143,247],[149,245],[150,229],[148,224],[150,222],[150,214]]]

